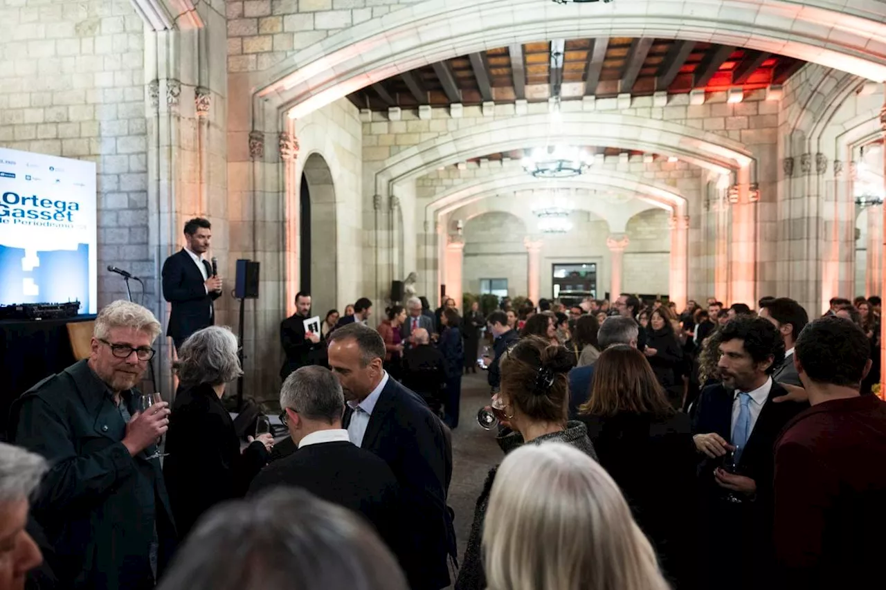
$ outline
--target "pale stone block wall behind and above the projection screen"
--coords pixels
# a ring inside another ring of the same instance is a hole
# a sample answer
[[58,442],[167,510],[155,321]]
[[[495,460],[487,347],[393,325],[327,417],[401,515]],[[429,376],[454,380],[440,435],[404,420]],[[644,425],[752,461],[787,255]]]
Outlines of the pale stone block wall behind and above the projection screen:
[[[142,19],[129,0],[55,0],[5,2],[0,22],[0,145],[95,162],[98,268],[144,277],[156,300]],[[125,297],[99,270],[99,306]]]

